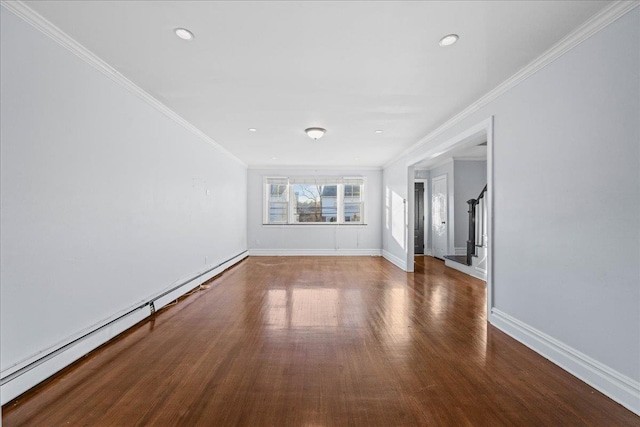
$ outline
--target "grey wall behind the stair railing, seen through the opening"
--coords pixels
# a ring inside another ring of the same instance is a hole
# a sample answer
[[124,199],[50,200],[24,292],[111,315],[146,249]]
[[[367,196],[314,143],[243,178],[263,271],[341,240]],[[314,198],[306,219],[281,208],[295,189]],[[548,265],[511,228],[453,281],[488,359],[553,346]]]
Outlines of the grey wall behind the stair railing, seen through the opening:
[[467,250],[469,239],[469,204],[467,200],[478,197],[487,183],[486,160],[454,160],[455,248]]

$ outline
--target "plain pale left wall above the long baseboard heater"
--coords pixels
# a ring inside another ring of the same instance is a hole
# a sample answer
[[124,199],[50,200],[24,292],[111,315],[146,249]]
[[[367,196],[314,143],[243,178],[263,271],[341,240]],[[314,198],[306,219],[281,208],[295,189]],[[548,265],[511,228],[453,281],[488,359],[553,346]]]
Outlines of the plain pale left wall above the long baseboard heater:
[[247,181],[234,158],[0,10],[4,377],[245,251]]

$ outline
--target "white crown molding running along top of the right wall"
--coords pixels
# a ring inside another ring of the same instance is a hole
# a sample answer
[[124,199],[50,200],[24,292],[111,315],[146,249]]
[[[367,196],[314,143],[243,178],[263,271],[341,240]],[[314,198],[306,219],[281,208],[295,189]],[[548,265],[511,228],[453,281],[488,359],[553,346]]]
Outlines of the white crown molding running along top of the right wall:
[[534,59],[520,71],[509,77],[507,80],[499,84],[497,87],[483,95],[480,99],[469,105],[467,108],[451,117],[449,120],[441,124],[427,136],[421,138],[415,144],[402,151],[399,155],[395,156],[391,161],[383,165],[383,169],[388,168],[398,160],[407,156],[411,152],[421,148],[427,143],[433,141],[438,135],[445,132],[447,129],[452,128],[471,114],[478,111],[480,108],[489,104],[491,101],[498,98],[500,95],[509,91],[519,83],[531,77],[547,65],[551,64],[556,59],[573,49],[583,41],[587,40],[598,31],[602,30],[609,24],[615,22],[618,18],[630,12],[640,5],[640,0],[632,1],[615,1],[610,5],[602,9],[600,12],[592,16],[584,24],[577,27],[570,32],[567,36],[562,38],[558,43],[553,45],[550,49],[544,52],[542,55]]

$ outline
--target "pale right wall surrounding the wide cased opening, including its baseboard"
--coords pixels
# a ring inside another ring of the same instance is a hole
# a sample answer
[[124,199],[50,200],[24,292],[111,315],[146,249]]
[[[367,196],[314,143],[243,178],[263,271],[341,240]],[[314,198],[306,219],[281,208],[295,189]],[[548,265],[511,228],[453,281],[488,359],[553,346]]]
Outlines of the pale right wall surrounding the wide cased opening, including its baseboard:
[[639,55],[636,8],[383,173],[406,198],[411,159],[493,115],[491,321],[636,412]]

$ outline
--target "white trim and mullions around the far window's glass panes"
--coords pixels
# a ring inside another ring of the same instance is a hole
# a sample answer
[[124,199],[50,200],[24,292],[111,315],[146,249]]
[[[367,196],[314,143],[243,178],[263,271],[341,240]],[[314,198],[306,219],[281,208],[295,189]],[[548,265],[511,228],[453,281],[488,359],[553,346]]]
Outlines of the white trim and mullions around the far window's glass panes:
[[[287,180],[287,222],[269,222],[269,196],[270,196],[270,192],[269,192],[269,186],[267,184],[269,184],[269,182],[271,180]],[[329,184],[329,185],[336,185],[337,189],[337,196],[336,196],[336,208],[337,208],[337,221],[336,222],[295,222],[294,221],[294,212],[295,212],[295,207],[293,205],[293,203],[291,203],[291,200],[295,200],[295,197],[293,195],[293,184],[295,184],[296,181],[313,181],[313,180],[323,180],[323,181],[333,181],[335,180],[335,184]],[[344,186],[348,185],[345,184],[345,182],[349,181],[349,180],[359,180],[362,182],[362,188],[361,188],[361,216],[362,219],[360,221],[345,221],[344,220]],[[357,227],[357,226],[366,226],[367,225],[367,217],[368,217],[368,206],[367,206],[367,197],[366,197],[366,192],[367,192],[367,177],[365,176],[307,176],[307,175],[301,175],[301,176],[289,176],[289,177],[284,177],[284,176],[264,176],[262,179],[262,195],[263,195],[263,201],[262,201],[262,225],[266,226],[266,227],[287,227],[287,226],[293,226],[293,227],[301,227],[301,226],[308,226],[308,227],[317,227],[317,226],[321,226],[321,227],[336,227],[336,226],[349,226],[349,227]]]

